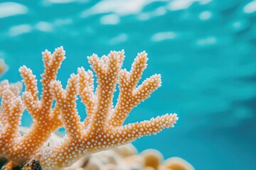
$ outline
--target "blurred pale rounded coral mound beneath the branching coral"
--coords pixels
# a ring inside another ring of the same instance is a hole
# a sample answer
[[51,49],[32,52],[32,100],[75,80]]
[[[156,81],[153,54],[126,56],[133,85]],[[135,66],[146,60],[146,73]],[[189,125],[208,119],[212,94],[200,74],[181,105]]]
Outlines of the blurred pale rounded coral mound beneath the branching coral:
[[83,157],[65,170],[194,170],[193,166],[179,157],[163,161],[156,149],[139,153],[132,145],[122,145],[107,151]]

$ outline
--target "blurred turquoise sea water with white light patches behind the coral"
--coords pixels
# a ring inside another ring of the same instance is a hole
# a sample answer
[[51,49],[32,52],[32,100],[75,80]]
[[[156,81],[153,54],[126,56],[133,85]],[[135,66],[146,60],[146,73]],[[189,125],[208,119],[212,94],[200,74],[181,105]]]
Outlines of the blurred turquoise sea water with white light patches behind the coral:
[[[9,65],[1,79],[20,81],[23,64],[39,78],[41,52],[60,45],[63,85],[77,67],[90,69],[92,53],[124,49],[129,69],[146,50],[143,79],[159,73],[163,84],[126,123],[180,119],[134,142],[139,151],[159,149],[196,169],[256,169],[256,1],[0,1],[0,57]],[[78,111],[85,118],[80,101]],[[31,122],[24,113],[22,125]]]

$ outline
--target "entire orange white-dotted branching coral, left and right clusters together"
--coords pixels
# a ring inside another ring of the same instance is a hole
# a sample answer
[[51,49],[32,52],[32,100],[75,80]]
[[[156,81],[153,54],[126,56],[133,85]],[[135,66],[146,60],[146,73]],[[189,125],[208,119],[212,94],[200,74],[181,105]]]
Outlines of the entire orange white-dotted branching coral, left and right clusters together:
[[[87,154],[124,145],[139,137],[174,127],[178,120],[176,113],[122,125],[132,108],[161,86],[159,74],[152,75],[137,86],[146,69],[146,52],[138,53],[129,72],[122,69],[123,50],[111,51],[102,57],[95,54],[87,57],[97,78],[96,88],[93,73],[81,67],[78,68],[78,74],[70,75],[64,89],[61,82],[56,80],[64,59],[63,47],[55,49],[53,55],[48,50],[43,52],[45,71],[41,75],[41,100],[38,98],[36,76],[25,66],[19,69],[26,86],[21,96],[21,84],[1,82],[1,157],[16,164],[37,159],[43,169],[60,169],[72,165]],[[119,97],[113,106],[117,84]],[[78,95],[86,108],[87,117],[83,121],[76,109]],[[33,124],[26,135],[21,135],[19,126],[24,109],[31,114]],[[66,131],[63,140],[50,146],[43,145],[50,133],[60,127]]]

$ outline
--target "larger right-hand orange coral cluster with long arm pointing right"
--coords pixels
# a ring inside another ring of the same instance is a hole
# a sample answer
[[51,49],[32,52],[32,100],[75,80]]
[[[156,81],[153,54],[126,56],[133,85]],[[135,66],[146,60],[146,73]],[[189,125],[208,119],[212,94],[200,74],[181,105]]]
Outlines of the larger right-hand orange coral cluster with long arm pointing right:
[[[70,166],[82,155],[92,154],[119,145],[132,142],[139,137],[156,134],[164,128],[172,128],[178,118],[176,114],[166,114],[151,118],[141,123],[122,126],[129,112],[141,101],[161,86],[159,74],[137,83],[146,69],[146,52],[139,53],[132,64],[131,72],[121,70],[124,51],[110,52],[110,55],[88,57],[97,77],[97,89],[94,94],[92,72],[78,69],[72,74],[65,89],[60,81],[53,81],[51,91],[60,106],[63,125],[67,132],[63,142],[47,147],[41,153],[43,169],[58,169]],[[119,82],[119,99],[114,109],[112,106],[115,86]],[[85,104],[87,118],[80,122],[75,110],[77,94]]]

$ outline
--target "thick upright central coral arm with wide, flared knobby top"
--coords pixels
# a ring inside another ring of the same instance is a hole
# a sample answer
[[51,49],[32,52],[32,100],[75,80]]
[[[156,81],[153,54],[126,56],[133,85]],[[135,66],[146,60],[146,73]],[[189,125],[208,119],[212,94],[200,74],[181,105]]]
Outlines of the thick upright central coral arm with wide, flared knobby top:
[[92,118],[92,126],[97,132],[102,131],[107,120],[107,115],[112,108],[112,98],[117,84],[117,76],[124,60],[123,52],[110,52],[108,57],[103,56],[100,60],[97,55],[88,57],[92,69],[97,77],[97,111]]

